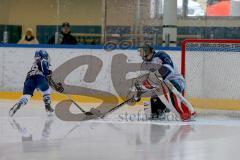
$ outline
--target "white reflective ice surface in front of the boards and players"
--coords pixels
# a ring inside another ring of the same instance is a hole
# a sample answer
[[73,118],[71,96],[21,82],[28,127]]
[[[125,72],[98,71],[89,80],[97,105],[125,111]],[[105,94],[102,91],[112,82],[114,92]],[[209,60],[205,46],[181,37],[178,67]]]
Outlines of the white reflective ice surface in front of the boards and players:
[[66,122],[48,117],[37,101],[11,119],[12,104],[0,101],[0,160],[235,160],[240,155],[237,114],[200,114],[190,123],[125,121],[117,113]]

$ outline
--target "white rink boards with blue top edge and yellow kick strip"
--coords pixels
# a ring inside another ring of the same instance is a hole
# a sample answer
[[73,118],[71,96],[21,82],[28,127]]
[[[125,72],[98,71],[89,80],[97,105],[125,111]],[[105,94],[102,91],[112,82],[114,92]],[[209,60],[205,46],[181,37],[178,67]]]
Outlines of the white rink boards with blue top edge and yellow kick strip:
[[[139,75],[138,68],[142,62],[136,49],[116,49],[109,52],[101,47],[0,46],[0,99],[18,99],[21,96],[26,73],[33,62],[34,51],[40,48],[49,52],[55,78],[64,82],[69,94],[78,95],[74,96],[76,101],[84,103],[101,103],[104,99],[122,101],[121,97],[126,95],[130,80]],[[178,48],[163,49],[180,68],[181,51]],[[190,74],[194,73],[190,72]],[[197,76],[201,78],[201,75]],[[201,88],[197,85],[196,83],[194,87]],[[240,93],[235,93],[236,97],[232,100],[191,96],[189,100],[195,108],[240,110],[240,100],[238,100]],[[215,93],[216,97],[217,94]],[[41,98],[40,94],[33,97],[33,99]],[[54,101],[63,99],[64,96],[53,94]],[[145,100],[148,98],[143,98],[140,104]]]

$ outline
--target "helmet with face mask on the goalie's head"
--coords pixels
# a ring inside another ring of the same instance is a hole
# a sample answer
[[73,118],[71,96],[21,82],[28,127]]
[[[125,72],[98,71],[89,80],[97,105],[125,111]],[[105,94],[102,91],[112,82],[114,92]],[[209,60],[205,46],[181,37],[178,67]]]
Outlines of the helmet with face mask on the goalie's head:
[[139,47],[138,52],[139,55],[142,57],[143,61],[152,60],[153,48],[150,45],[144,44],[143,46]]

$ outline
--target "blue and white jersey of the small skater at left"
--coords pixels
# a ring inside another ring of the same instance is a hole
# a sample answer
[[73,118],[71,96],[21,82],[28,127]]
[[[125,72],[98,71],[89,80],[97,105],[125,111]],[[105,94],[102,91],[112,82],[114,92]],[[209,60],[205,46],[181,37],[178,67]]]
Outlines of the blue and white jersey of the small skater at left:
[[49,63],[45,59],[37,59],[32,67],[31,70],[27,73],[27,77],[35,76],[35,75],[42,75],[47,76],[49,75]]

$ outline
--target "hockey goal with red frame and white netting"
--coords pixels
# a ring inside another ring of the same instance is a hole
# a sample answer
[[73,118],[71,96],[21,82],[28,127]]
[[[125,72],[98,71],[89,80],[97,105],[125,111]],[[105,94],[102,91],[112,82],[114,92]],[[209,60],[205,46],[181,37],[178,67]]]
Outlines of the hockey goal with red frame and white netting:
[[181,72],[194,107],[240,110],[240,40],[184,40]]

